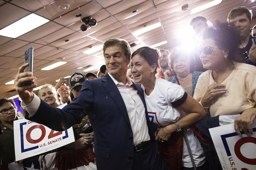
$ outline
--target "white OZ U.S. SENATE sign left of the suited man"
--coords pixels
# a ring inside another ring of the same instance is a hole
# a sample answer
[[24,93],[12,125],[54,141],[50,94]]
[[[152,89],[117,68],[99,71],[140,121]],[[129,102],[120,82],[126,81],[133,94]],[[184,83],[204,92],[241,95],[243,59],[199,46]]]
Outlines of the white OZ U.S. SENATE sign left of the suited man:
[[15,120],[13,126],[16,161],[48,152],[75,141],[72,127],[58,132],[27,119]]

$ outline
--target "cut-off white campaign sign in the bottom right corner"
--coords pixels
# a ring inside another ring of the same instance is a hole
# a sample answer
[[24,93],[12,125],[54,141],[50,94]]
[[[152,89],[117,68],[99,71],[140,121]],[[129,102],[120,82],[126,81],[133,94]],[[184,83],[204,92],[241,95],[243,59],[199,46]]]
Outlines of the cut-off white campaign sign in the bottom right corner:
[[252,127],[252,136],[241,131],[241,137],[235,132],[233,123],[209,129],[224,170],[256,169],[256,121]]

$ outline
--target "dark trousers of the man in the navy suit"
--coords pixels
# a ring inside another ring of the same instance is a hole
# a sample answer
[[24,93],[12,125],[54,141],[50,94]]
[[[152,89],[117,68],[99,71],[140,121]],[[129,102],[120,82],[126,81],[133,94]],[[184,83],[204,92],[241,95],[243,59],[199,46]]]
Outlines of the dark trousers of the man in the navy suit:
[[138,152],[133,153],[132,170],[170,170],[158,154],[157,143],[149,142]]

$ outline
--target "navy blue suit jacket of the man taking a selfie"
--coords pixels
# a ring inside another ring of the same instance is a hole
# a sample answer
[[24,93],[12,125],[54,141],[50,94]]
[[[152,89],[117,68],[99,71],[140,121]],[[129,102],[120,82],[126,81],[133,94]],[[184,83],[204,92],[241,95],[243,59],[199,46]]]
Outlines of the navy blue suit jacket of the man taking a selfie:
[[[145,107],[143,114],[147,119],[151,142],[156,144],[143,90],[134,82],[133,85]],[[80,123],[87,114],[94,129],[97,169],[132,169],[132,160],[129,160],[129,157],[133,156],[132,128],[121,94],[108,74],[99,79],[85,81],[80,94],[61,110],[41,101],[38,111],[29,119],[51,129],[63,131],[73,124]]]

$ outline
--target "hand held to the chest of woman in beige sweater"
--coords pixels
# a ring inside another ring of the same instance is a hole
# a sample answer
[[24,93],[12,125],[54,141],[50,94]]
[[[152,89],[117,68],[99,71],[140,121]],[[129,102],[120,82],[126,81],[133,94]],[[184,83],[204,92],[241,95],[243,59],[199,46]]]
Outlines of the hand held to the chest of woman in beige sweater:
[[216,96],[223,95],[226,93],[226,85],[218,84],[217,82],[213,82],[208,86],[206,92],[204,93],[201,104],[203,107],[208,107],[209,102],[214,99]]

